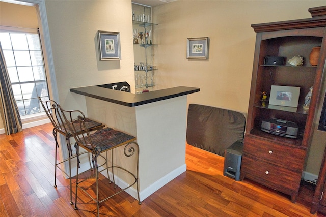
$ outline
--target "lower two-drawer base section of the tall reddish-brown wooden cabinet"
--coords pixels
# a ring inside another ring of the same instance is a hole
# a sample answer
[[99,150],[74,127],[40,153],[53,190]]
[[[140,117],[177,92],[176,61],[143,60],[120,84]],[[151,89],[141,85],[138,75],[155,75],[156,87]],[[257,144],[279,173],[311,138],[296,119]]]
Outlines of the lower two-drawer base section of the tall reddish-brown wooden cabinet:
[[296,200],[306,156],[306,149],[270,142],[255,135],[246,135],[243,146],[241,175]]

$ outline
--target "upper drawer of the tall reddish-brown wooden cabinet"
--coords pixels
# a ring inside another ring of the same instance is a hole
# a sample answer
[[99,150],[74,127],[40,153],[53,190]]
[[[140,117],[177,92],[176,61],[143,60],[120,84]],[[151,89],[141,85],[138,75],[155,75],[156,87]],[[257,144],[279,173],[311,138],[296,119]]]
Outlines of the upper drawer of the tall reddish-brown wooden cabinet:
[[306,150],[247,136],[244,139],[243,154],[302,172]]

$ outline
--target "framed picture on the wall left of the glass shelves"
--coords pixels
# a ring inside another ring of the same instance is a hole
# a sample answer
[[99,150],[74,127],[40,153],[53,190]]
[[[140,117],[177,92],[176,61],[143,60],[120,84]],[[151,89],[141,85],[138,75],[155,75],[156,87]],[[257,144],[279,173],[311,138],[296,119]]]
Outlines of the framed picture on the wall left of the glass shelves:
[[120,33],[97,31],[100,60],[120,60]]

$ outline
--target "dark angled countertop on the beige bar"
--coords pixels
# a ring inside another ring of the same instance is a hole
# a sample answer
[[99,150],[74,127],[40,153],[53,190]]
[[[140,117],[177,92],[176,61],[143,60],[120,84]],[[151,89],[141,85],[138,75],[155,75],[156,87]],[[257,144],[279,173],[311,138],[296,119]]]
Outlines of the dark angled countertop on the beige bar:
[[70,92],[75,92],[76,94],[129,107],[193,94],[194,92],[199,92],[199,90],[200,89],[197,87],[179,86],[143,92],[142,94],[132,94],[130,92],[113,90],[98,86],[70,88]]

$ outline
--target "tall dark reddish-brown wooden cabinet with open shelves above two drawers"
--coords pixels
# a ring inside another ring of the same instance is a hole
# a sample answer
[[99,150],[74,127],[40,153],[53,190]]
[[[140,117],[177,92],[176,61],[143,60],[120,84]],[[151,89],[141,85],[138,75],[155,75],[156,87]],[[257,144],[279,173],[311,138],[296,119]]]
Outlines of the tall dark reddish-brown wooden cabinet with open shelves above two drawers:
[[[324,10],[325,7],[309,9],[313,16],[309,19],[252,25],[257,34],[240,179],[249,178],[290,195],[292,202],[298,195],[320,98],[326,57]],[[312,66],[309,56],[317,46],[321,47],[318,65]],[[285,57],[284,64],[266,65],[266,56]],[[302,66],[288,63],[294,56],[303,57]],[[300,87],[297,107],[270,105],[272,85]],[[313,91],[307,110],[304,104],[310,87]],[[266,101],[262,101],[264,91]],[[262,121],[270,118],[295,122],[297,138],[263,132]]]

